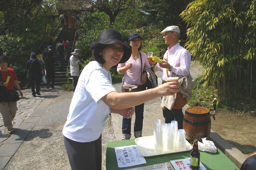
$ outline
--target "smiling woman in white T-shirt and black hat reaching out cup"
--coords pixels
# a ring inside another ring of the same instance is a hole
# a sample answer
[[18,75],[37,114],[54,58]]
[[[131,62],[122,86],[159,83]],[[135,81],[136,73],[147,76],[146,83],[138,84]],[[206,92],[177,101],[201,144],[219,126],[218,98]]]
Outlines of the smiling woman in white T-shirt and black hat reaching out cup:
[[91,43],[91,49],[91,62],[78,79],[62,130],[72,170],[101,170],[101,133],[108,117],[111,126],[111,113],[131,118],[133,106],[172,95],[178,87],[177,83],[169,82],[145,91],[118,93],[109,69],[129,60],[130,47],[122,43],[120,32],[109,29],[100,33],[98,41]]

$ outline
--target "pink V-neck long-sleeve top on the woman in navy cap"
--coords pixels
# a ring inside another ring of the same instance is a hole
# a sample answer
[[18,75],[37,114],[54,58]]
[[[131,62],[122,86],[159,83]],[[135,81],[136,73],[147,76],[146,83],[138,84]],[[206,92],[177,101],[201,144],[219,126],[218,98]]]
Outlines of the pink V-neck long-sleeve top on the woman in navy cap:
[[[149,63],[148,63],[148,58],[147,55],[143,52],[141,52],[141,57],[142,57],[142,71],[144,68],[150,67]],[[119,72],[119,69],[121,67],[126,66],[128,63],[133,63],[133,66],[126,70],[124,73],[124,84],[139,84],[140,83],[140,57],[138,58],[138,60],[134,60],[133,57],[130,57],[128,61],[126,61],[125,63],[120,63],[117,66],[117,72],[119,74],[121,74]]]

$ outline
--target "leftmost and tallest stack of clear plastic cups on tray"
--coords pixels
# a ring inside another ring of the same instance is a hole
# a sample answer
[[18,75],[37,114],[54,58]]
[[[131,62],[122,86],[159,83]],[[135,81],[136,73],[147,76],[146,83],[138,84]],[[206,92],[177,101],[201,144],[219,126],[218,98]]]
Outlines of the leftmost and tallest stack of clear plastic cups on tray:
[[154,122],[154,141],[155,141],[155,153],[156,154],[162,154],[164,145],[163,145],[163,139],[162,139],[162,122],[160,119],[156,119]]

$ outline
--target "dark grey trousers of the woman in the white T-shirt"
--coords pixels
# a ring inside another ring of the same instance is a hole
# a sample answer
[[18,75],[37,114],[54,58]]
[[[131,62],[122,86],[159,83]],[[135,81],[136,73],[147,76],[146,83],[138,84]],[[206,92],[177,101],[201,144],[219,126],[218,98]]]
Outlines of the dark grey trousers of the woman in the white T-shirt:
[[72,170],[101,170],[101,135],[91,142],[77,142],[64,136],[64,145]]

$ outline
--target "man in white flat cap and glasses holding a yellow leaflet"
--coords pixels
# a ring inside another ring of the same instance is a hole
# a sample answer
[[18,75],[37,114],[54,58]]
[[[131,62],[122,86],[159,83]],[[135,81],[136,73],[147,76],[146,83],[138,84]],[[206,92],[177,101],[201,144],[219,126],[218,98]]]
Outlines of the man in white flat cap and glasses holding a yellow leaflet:
[[[181,47],[178,43],[180,37],[180,30],[178,26],[169,26],[162,30],[161,34],[164,35],[165,44],[169,47],[164,54],[162,64],[158,62],[149,60],[149,62],[156,66],[156,68],[162,71],[162,83],[167,82],[168,77],[173,77],[172,74],[175,73],[175,77],[187,77],[190,69],[191,55],[187,49]],[[174,75],[174,74],[173,74]],[[177,99],[177,98],[176,98]],[[186,102],[186,98],[185,98]],[[186,104],[186,103],[185,103]],[[184,104],[184,105],[185,105]],[[184,106],[183,105],[183,106]],[[165,118],[165,123],[170,123],[172,120],[178,122],[178,128],[183,128],[183,118],[182,107],[173,107],[171,110],[168,108],[163,109],[163,115]],[[181,107],[181,108],[180,108]],[[174,109],[175,108],[175,109]]]

